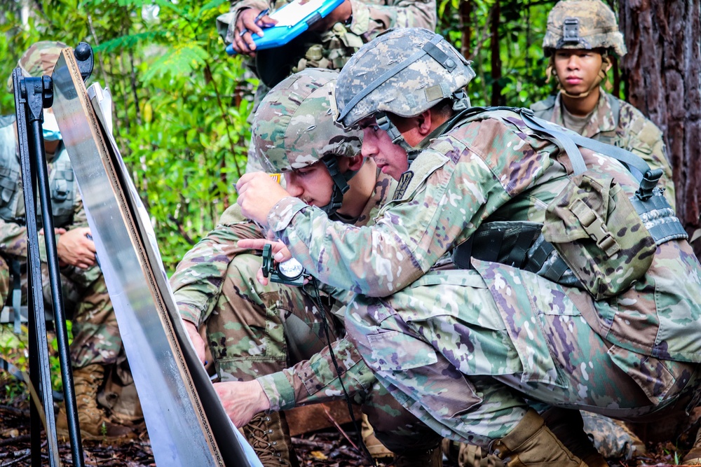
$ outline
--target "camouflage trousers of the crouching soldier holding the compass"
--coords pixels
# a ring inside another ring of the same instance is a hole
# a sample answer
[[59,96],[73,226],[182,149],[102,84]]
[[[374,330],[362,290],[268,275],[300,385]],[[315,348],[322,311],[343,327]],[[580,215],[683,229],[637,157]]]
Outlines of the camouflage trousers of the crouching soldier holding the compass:
[[[631,421],[693,404],[699,365],[616,347],[562,287],[495,269],[431,272],[388,298],[359,295],[348,305],[348,335],[367,365],[435,431],[486,447],[531,401]],[[520,306],[496,302],[491,287],[510,290]]]

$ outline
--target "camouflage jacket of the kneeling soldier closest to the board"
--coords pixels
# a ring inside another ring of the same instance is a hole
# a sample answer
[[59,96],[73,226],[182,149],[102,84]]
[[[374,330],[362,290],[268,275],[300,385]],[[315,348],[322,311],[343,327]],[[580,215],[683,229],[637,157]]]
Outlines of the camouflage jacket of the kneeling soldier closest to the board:
[[[372,223],[381,206],[393,196],[395,186],[393,179],[378,172],[373,195],[355,225]],[[236,246],[238,240],[249,238],[264,238],[264,234],[257,225],[243,218],[238,204],[235,204],[224,211],[217,228],[184,256],[170,278],[170,286],[183,319],[198,325],[205,321],[217,304],[231,260],[240,253],[253,253]],[[325,287],[324,291],[341,303],[351,298],[351,294],[344,289]],[[349,378],[362,381],[373,378],[365,365],[357,365],[362,363],[362,358],[348,340],[337,340],[331,347],[343,371],[349,373]],[[259,377],[258,380],[271,402],[271,409],[284,410],[309,402],[311,399],[308,397],[313,396],[318,388],[336,387],[339,379],[333,370],[328,370],[333,368],[331,356],[325,349],[308,361],[297,363],[283,372]]]

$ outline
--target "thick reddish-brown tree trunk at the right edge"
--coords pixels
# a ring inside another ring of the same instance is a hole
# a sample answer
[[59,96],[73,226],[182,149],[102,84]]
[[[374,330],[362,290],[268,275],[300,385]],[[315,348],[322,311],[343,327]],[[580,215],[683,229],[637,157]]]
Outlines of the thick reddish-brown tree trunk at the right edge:
[[630,102],[665,133],[676,212],[692,232],[700,226],[701,0],[619,0],[619,16]]

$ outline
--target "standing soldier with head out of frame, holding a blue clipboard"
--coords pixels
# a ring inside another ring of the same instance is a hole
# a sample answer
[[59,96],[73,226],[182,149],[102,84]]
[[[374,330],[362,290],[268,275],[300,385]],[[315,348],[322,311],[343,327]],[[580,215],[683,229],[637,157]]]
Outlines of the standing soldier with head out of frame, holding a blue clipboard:
[[[305,34],[289,46],[255,52],[251,34],[262,33],[260,26],[273,25],[265,15],[289,3],[287,0],[240,0],[231,2],[231,12],[217,19],[217,29],[236,53],[254,56],[250,67],[261,78],[254,97],[254,109],[271,86],[288,74],[309,68],[340,70],[362,44],[391,27],[436,27],[435,0],[346,0],[326,18],[316,23],[315,32]],[[249,32],[246,32],[249,31]],[[262,170],[252,145],[246,172]]]

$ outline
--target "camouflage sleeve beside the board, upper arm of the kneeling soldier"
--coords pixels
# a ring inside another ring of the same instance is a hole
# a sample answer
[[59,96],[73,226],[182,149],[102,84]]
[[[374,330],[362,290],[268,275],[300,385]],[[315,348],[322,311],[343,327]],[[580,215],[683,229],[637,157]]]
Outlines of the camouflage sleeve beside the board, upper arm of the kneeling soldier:
[[224,211],[217,228],[186,253],[170,277],[170,287],[182,318],[198,326],[217,304],[231,260],[240,253],[252,252],[240,249],[236,242],[263,238],[257,225],[231,215],[231,211],[237,210],[238,205],[235,205]]

